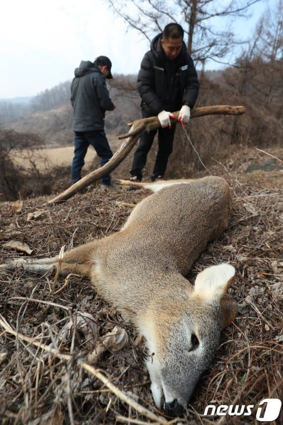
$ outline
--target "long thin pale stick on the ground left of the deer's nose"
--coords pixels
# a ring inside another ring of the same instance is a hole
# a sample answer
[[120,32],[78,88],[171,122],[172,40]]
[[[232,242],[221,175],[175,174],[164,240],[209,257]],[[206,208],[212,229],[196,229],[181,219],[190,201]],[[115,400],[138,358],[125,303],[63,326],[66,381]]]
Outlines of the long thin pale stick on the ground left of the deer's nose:
[[[35,338],[27,337],[26,335],[20,334],[16,331],[14,331],[11,326],[6,322],[3,316],[0,315],[0,326],[4,329],[5,332],[13,335],[14,337],[18,338],[19,340],[23,340],[28,342],[29,344],[33,344],[39,348],[41,348],[44,351],[49,352],[50,354],[53,354],[55,357],[58,357],[62,360],[71,360],[74,359],[73,355],[61,353],[55,348],[52,348],[48,345],[43,344],[42,342],[36,341]],[[146,416],[148,419],[154,421],[157,424],[170,424],[165,418],[162,416],[155,415],[154,413],[150,412],[148,409],[141,406],[139,403],[137,403],[135,400],[133,400],[131,397],[128,397],[123,391],[119,390],[112,382],[104,376],[98,369],[95,369],[82,359],[77,360],[77,364],[80,365],[84,370],[89,372],[91,375],[98,378],[103,384],[110,389],[110,391],[115,394],[116,397],[118,397],[123,402],[127,403],[129,406],[131,406],[133,409],[135,409],[137,412],[139,412],[141,415]]]

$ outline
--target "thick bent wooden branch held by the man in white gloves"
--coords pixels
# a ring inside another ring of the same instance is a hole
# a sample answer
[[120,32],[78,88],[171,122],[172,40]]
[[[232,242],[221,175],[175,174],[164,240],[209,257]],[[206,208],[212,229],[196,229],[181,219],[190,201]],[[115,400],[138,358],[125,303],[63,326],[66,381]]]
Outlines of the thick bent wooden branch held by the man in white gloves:
[[[245,113],[244,106],[229,106],[229,105],[215,105],[215,106],[203,106],[195,108],[192,110],[191,118],[196,118],[205,115],[241,115]],[[176,118],[179,115],[179,111],[173,112],[175,118],[172,118],[171,121],[176,122]],[[106,174],[110,174],[111,171],[115,170],[121,162],[127,157],[127,155],[132,151],[135,144],[141,137],[142,133],[145,131],[150,131],[158,128],[160,126],[157,116],[138,119],[130,124],[131,129],[128,134],[119,136],[119,139],[126,139],[124,143],[120,146],[118,151],[115,152],[113,157],[106,163],[103,167],[98,168],[97,170],[91,171],[85,177],[81,178],[76,183],[72,184],[64,192],[57,195],[55,198],[48,201],[49,204],[66,201],[71,198],[76,192],[88,186],[95,180],[103,177]]]

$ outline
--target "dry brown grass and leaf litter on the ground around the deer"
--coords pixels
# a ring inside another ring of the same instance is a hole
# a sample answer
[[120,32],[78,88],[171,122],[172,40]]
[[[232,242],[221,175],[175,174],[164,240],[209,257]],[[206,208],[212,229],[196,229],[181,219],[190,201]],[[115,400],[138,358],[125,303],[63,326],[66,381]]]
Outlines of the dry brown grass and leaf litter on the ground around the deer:
[[[238,300],[239,313],[223,331],[215,361],[179,424],[225,422],[225,417],[202,417],[211,403],[256,405],[267,397],[282,398],[282,172],[230,174],[228,164],[221,170],[233,193],[232,220],[200,256],[188,278],[194,279],[207,265],[230,262],[237,270],[230,293]],[[138,202],[145,195],[143,191],[93,189],[61,205],[47,206],[44,198],[26,200],[18,214],[10,203],[3,203],[1,237],[27,243],[38,257],[56,255],[63,245],[70,249],[118,231],[130,209],[116,201]],[[27,214],[38,209],[44,213],[27,221]],[[1,262],[14,256],[1,250]],[[156,423],[154,416],[140,410],[161,415],[153,404],[143,365],[144,345],[136,340],[135,330],[96,295],[87,279],[71,275],[58,293],[65,280],[59,277],[51,292],[53,280],[54,274],[36,276],[22,269],[1,272],[0,314],[7,323],[0,326],[2,423]],[[91,339],[78,326],[85,312],[97,325]],[[60,331],[68,323],[69,333],[62,339]],[[126,329],[128,344],[117,352],[106,351],[93,364],[94,371],[86,370],[83,362],[89,352],[116,325]],[[9,326],[26,340],[13,335]],[[43,345],[55,351],[48,352]],[[108,381],[102,382],[97,369]],[[115,393],[109,382],[139,406]],[[162,421],[166,423],[165,418]],[[249,423],[254,421],[253,412]],[[245,424],[247,417],[229,423]]]

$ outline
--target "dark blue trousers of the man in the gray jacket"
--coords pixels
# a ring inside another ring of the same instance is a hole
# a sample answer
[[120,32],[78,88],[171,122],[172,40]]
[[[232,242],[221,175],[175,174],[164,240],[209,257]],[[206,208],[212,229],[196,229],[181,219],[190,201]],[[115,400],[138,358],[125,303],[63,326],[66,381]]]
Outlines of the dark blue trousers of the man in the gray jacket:
[[[74,132],[74,157],[71,164],[71,184],[80,180],[80,171],[84,166],[84,157],[87,148],[91,145],[100,158],[100,166],[104,166],[113,156],[104,130],[75,131]],[[110,184],[110,174],[102,177],[101,182]]]

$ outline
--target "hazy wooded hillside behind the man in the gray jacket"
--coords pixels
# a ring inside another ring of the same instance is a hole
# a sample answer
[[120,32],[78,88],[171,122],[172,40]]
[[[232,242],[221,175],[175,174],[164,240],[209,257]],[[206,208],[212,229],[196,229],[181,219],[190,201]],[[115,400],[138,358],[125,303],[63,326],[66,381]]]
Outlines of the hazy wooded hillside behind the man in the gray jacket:
[[[111,136],[127,132],[127,123],[140,118],[140,97],[136,80],[136,76],[118,75],[112,86],[108,87],[110,96],[117,106],[113,112],[106,112],[105,130]],[[25,111],[13,117],[17,111],[12,110],[12,105],[10,105],[11,116],[6,111],[7,107],[2,113],[0,108],[2,125],[17,132],[38,134],[46,147],[72,145],[70,86],[71,82],[67,81],[31,98],[29,113]]]

